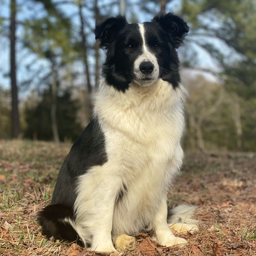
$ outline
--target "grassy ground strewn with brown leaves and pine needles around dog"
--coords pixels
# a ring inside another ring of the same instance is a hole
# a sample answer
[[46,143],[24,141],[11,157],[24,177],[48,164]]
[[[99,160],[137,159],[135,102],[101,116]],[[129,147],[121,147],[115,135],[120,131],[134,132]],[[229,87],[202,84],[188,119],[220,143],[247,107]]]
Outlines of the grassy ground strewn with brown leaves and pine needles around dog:
[[[109,255],[76,244],[47,241],[36,222],[50,202],[58,170],[71,147],[0,141],[0,256]],[[187,152],[169,192],[169,206],[193,204],[200,232],[182,233],[188,244],[162,247],[137,234],[126,255],[256,256],[256,154]]]

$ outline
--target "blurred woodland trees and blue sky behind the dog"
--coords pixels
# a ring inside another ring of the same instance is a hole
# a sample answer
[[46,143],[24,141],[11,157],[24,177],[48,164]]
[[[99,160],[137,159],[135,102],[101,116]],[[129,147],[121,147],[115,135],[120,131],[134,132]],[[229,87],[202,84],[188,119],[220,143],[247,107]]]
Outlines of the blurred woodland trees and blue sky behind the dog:
[[0,138],[74,140],[93,116],[105,58],[94,39],[95,24],[120,11],[130,23],[161,11],[180,15],[190,27],[178,50],[188,90],[184,148],[256,150],[255,0],[0,5]]

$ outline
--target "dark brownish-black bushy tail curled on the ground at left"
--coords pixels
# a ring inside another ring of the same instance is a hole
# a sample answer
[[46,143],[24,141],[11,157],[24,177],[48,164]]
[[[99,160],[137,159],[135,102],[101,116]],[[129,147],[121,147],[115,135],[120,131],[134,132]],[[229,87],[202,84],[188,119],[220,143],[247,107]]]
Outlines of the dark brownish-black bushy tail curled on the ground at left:
[[73,211],[62,204],[48,205],[38,213],[38,222],[42,226],[42,233],[48,239],[53,236],[59,240],[78,240],[79,236],[76,230],[68,222],[63,221],[65,218],[73,219]]

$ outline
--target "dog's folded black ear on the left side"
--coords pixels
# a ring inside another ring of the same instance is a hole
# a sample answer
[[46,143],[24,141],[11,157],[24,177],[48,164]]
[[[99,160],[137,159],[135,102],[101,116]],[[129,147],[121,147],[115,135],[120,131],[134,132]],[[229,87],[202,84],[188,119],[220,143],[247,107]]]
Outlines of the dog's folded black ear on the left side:
[[95,39],[99,39],[99,46],[108,48],[118,32],[127,24],[125,17],[117,16],[105,20],[96,26],[94,30]]

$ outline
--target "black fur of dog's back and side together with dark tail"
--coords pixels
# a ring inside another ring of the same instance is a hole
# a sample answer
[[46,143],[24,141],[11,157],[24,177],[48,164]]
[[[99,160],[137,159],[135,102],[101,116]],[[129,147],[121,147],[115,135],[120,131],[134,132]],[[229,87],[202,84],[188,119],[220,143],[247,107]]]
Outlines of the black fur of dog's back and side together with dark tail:
[[[73,219],[73,205],[76,201],[76,180],[92,166],[107,161],[105,138],[97,118],[85,128],[73,144],[70,153],[61,166],[51,205],[38,213],[38,222],[43,234],[55,239],[75,241],[78,235],[73,227],[64,222],[64,218]],[[81,241],[77,241],[82,245]]]

